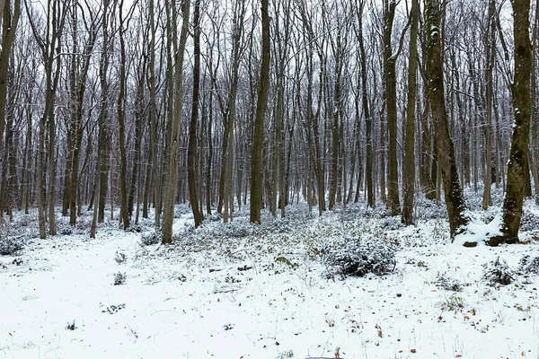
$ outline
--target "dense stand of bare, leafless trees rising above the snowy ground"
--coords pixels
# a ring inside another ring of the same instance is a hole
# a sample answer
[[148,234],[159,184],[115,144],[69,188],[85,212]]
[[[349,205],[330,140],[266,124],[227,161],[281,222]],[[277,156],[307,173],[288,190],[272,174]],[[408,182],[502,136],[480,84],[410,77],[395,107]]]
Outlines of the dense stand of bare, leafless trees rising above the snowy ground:
[[[174,205],[195,225],[249,206],[414,197],[470,220],[504,188],[503,235],[539,201],[539,1],[2,0],[0,213],[93,210],[123,228]],[[155,212],[154,212],[155,211]]]

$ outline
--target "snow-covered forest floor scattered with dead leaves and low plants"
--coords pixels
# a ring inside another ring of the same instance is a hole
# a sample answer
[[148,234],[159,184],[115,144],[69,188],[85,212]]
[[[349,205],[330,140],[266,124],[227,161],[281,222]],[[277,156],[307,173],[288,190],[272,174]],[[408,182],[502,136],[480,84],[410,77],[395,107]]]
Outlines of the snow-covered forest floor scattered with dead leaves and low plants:
[[[487,212],[467,196],[496,221],[499,193]],[[0,256],[0,358],[539,358],[537,206],[523,243],[499,248],[451,243],[443,206],[417,207],[409,227],[364,205],[318,217],[300,204],[262,226],[242,210],[195,230],[178,206],[171,246],[143,244],[152,220],[108,221],[91,240],[91,214],[75,230],[61,218],[65,234],[39,240],[35,215],[17,216],[24,247]],[[341,276],[331,258],[350,241],[391,247],[394,268]]]

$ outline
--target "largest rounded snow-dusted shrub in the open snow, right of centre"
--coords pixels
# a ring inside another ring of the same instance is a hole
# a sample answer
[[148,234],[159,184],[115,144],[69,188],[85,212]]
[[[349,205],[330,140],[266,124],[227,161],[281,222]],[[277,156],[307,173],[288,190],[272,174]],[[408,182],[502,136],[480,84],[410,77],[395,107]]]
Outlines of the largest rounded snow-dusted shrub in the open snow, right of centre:
[[345,235],[343,241],[333,242],[323,249],[323,259],[332,275],[383,276],[396,266],[396,246],[381,238],[362,239]]

